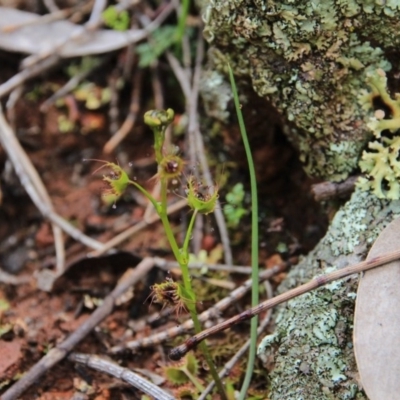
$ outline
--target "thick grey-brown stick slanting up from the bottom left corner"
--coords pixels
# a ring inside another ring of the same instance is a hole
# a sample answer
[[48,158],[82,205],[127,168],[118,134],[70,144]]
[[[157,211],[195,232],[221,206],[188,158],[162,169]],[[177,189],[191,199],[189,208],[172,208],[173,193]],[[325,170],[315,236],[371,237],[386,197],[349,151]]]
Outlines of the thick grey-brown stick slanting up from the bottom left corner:
[[130,269],[120,280],[115,289],[104,299],[102,305],[64,342],[51,349],[19,381],[12,385],[1,397],[1,400],[14,400],[33,385],[48,369],[61,361],[93,328],[103,321],[113,310],[115,301],[132,285],[138,282],[151,268],[153,260],[144,258],[134,269]]

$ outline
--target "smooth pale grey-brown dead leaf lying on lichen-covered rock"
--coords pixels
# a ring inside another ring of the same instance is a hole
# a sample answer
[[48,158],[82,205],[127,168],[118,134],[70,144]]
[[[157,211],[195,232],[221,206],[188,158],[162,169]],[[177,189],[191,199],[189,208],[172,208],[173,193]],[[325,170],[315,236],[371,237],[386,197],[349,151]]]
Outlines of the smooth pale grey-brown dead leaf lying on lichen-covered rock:
[[[367,259],[397,250],[400,218],[379,235]],[[354,347],[362,386],[370,400],[400,398],[400,260],[360,279]]]

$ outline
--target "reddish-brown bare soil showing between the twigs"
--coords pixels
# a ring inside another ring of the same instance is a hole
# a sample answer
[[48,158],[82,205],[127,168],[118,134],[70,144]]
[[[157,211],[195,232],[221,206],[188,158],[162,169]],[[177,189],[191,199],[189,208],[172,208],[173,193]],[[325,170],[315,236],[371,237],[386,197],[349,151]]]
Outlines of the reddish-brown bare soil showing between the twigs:
[[[105,74],[109,72],[104,71]],[[4,74],[7,75],[5,72]],[[50,76],[48,79],[54,77]],[[34,84],[40,86],[43,81],[37,80]],[[28,86],[29,92],[33,84]],[[255,95],[251,96],[252,101],[244,107],[244,112],[251,144],[255,149],[260,191],[260,260],[261,265],[267,266],[274,260],[271,257],[285,259],[310,250],[323,234],[326,219],[319,206],[311,199],[311,182],[296,162],[294,151],[279,133],[279,121],[272,120],[274,122],[271,123],[271,119],[268,119],[274,112],[271,110],[270,116],[266,115],[265,110],[269,106]],[[44,94],[35,100],[28,100],[23,96],[14,111],[13,128],[39,172],[55,210],[63,218],[73,222],[78,229],[102,242],[141,221],[144,213],[141,197],[134,190],[129,190],[115,209],[105,207],[100,199],[104,188],[101,179],[103,171],[92,174],[99,164],[82,161],[83,158],[105,158],[101,149],[109,138],[107,109],[89,112],[82,104],[78,104],[81,124],[71,132],[60,133],[58,118],[65,115],[67,110],[53,106],[45,114],[40,113],[39,106],[45,99]],[[121,108],[126,109],[127,106],[124,104]],[[254,110],[258,110],[259,114],[254,114]],[[82,121],[88,119],[96,121],[96,128],[82,133]],[[152,134],[139,123],[134,133],[108,158],[111,161],[118,159],[128,169],[128,162],[140,164],[134,170],[131,169],[131,175],[148,187],[152,185],[150,178],[155,173],[155,164],[151,158],[151,140]],[[210,138],[207,146],[210,154],[224,151],[226,158],[235,162],[229,172],[228,190],[229,185],[236,181],[244,182],[248,190],[246,163],[236,162],[245,159],[237,127],[234,124],[221,126],[221,134],[216,139]],[[227,170],[229,171],[229,167]],[[54,268],[52,229],[26,195],[18,178],[10,172],[7,155],[1,148],[0,172],[0,266],[16,277],[32,277],[30,283],[25,284],[0,283],[0,302],[8,304],[2,310],[0,303],[0,393],[3,393],[19,374],[28,371],[50,348],[61,343],[88,318],[93,310],[88,308],[87,303],[84,305],[85,296],[104,298],[116,285],[124,270],[132,265],[131,261],[124,259],[123,254],[120,258],[117,254],[114,258],[104,256],[96,262],[89,261],[85,258],[88,249],[64,236],[70,269],[59,278],[50,293],[37,289],[34,274],[43,268]],[[222,188],[222,199],[226,190]],[[187,210],[184,210],[174,217],[177,231],[181,229],[180,219],[185,219],[186,216]],[[213,219],[207,217],[207,234],[203,246],[208,251],[219,243],[214,225]],[[231,235],[235,262],[249,264],[249,217],[245,217],[240,230],[231,232]],[[277,256],[276,247],[279,243],[285,243],[288,251]],[[159,224],[142,230],[140,234],[124,242],[120,250],[133,252],[139,257],[159,255],[171,258]],[[160,281],[163,276],[160,272],[154,279]],[[227,279],[223,274],[214,277]],[[237,283],[241,279],[234,277]],[[155,305],[143,305],[149,295],[146,290],[149,285],[151,282],[146,281],[138,284],[134,297],[117,307],[75,350],[107,355],[108,348],[120,344],[127,337],[128,322],[132,315],[140,318],[157,309]],[[221,289],[207,290],[209,298],[205,299],[203,307],[211,305],[227,293]],[[241,302],[225,316],[233,315],[243,307],[245,303]],[[175,323],[173,320],[166,322],[168,326]],[[148,336],[153,330],[164,330],[166,326],[152,328],[144,325],[136,336]],[[216,345],[214,347],[220,348],[215,356],[219,367],[233,355],[247,335],[248,324],[242,324],[231,332],[210,340],[211,344]],[[174,344],[181,340],[182,338],[175,340]],[[171,343],[167,346],[170,347]],[[163,366],[169,363],[165,348],[158,346],[137,354],[128,353],[113,358],[123,366],[141,368],[164,376]],[[199,354],[198,357],[201,358]],[[201,368],[199,376],[205,381],[206,370]],[[265,386],[261,365],[256,368],[255,382],[259,387]],[[163,386],[171,388],[172,384],[165,381]],[[47,372],[21,398],[71,399],[76,393],[81,393],[82,398],[96,400],[141,398],[139,393],[117,379],[85,367],[74,366],[66,360]]]

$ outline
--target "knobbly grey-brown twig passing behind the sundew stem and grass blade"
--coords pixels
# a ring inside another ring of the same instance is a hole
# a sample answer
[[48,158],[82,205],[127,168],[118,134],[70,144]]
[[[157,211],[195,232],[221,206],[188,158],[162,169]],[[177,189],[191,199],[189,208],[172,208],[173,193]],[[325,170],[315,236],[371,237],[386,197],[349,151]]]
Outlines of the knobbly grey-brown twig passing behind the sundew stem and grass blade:
[[[261,272],[260,277],[259,277],[260,282],[262,282],[266,279],[270,279],[272,276],[274,276],[280,272],[283,272],[288,267],[288,265],[289,265],[289,263],[282,263],[282,264],[272,267],[271,269]],[[252,280],[248,279],[246,282],[243,283],[243,285],[241,285],[238,288],[236,288],[235,290],[233,290],[229,294],[229,296],[223,298],[217,304],[215,304],[213,307],[202,312],[199,315],[199,321],[204,322],[204,321],[209,320],[210,318],[219,316],[220,313],[223,312],[225,309],[227,309],[231,304],[233,304],[234,302],[236,302],[240,298],[242,298],[250,290],[251,285],[252,285]],[[162,332],[158,332],[149,337],[145,337],[145,338],[138,339],[138,340],[132,340],[132,341],[127,342],[120,346],[114,346],[113,348],[111,348],[111,352],[119,353],[121,351],[124,351],[126,348],[129,348],[132,351],[135,351],[141,347],[152,347],[152,346],[155,346],[156,344],[160,344],[162,342],[165,342],[166,340],[172,339],[173,337],[175,337],[177,335],[186,333],[190,329],[193,329],[193,320],[191,320],[191,319],[185,321],[183,324],[174,326],[174,327],[172,327],[168,330],[164,330]]]

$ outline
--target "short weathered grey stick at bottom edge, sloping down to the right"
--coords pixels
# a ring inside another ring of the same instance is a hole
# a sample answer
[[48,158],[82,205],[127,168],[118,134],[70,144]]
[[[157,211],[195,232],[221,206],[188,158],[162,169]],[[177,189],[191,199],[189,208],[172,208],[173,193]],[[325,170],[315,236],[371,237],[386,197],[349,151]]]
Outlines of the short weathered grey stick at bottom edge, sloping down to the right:
[[105,360],[97,355],[72,353],[68,356],[68,360],[83,364],[97,371],[105,372],[115,378],[121,379],[157,400],[175,399],[175,397],[154,385],[154,383],[151,383],[140,375],[132,372],[130,369],[123,368],[117,363]]

